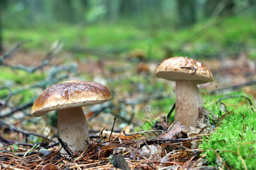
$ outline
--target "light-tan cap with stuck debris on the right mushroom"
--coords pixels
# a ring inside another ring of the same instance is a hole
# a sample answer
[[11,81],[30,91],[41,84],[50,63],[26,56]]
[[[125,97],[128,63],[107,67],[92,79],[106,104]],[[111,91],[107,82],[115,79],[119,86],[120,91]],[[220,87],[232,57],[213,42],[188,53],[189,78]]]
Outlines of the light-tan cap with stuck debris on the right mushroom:
[[213,81],[213,75],[205,64],[188,57],[171,57],[156,67],[157,78],[175,81],[176,79],[194,80],[197,84]]

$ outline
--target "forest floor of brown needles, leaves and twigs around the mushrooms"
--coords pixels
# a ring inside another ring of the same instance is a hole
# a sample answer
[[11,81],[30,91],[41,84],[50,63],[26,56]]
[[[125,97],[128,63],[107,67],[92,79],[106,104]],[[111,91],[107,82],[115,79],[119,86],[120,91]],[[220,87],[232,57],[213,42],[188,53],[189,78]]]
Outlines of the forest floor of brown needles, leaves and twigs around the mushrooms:
[[[50,118],[33,121],[28,107],[1,120],[0,169],[218,169],[208,166],[203,149],[198,147],[202,137],[214,131],[213,125],[188,129],[166,120],[175,101],[174,83],[156,79],[154,69],[161,61],[147,61],[144,57],[141,53],[131,52],[122,59],[107,60],[104,56],[99,57],[100,60],[75,59],[77,72],[69,74],[68,80],[107,84],[113,96],[107,106],[84,109],[91,128],[88,149],[73,152],[69,157],[60,155],[55,139],[57,130],[50,125]],[[47,74],[52,67],[70,63],[70,58],[72,53],[68,52],[62,57],[54,57],[41,72]],[[43,52],[21,50],[6,59],[6,63],[37,67],[44,59]],[[246,53],[201,62],[215,77],[213,83],[201,86],[210,112],[218,114],[218,99],[228,96],[230,91],[242,91],[240,94],[250,96],[254,103],[256,89],[247,85],[255,84],[252,80],[256,79],[256,62]],[[8,82],[5,83],[7,86]],[[11,84],[23,86],[23,83]],[[36,94],[41,90],[36,89]],[[217,94],[221,97],[210,97]],[[171,99],[166,101],[165,98]],[[245,100],[235,100],[233,104],[245,103]],[[227,103],[227,106],[233,104]],[[11,103],[9,106],[11,108]],[[6,107],[4,111],[10,108]],[[171,116],[173,118],[174,113]],[[225,163],[220,164],[220,168],[223,166]]]

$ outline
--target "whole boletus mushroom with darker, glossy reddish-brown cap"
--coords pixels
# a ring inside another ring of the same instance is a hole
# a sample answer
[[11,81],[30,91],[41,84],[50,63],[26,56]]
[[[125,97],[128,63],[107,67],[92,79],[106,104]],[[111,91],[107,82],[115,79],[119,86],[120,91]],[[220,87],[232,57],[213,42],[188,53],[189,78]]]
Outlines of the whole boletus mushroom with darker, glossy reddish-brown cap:
[[[31,115],[38,117],[58,110],[58,135],[69,149],[80,152],[87,149],[89,130],[82,106],[110,100],[106,86],[90,81],[65,81],[44,90],[33,103]],[[66,154],[64,149],[61,154]]]

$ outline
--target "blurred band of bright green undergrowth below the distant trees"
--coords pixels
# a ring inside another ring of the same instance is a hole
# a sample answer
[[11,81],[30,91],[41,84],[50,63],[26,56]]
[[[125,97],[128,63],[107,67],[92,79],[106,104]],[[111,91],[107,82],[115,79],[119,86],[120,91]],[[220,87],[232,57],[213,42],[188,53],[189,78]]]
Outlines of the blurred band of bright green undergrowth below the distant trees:
[[122,54],[142,49],[148,59],[154,60],[166,57],[165,47],[174,56],[202,58],[247,51],[250,57],[255,58],[253,47],[256,45],[256,32],[253,20],[254,18],[235,16],[217,26],[213,24],[207,27],[208,21],[181,30],[169,26],[144,28],[129,22],[90,26],[52,23],[26,29],[10,26],[4,29],[3,39],[9,43],[32,40],[33,43],[25,46],[28,49],[49,47],[55,40],[62,40],[66,50],[84,47],[103,53]]

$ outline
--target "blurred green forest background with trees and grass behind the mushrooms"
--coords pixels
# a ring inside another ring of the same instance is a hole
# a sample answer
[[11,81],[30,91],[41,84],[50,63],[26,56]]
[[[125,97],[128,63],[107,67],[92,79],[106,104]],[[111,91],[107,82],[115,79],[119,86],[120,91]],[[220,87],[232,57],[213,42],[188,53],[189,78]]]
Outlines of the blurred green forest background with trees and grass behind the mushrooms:
[[29,39],[26,49],[46,50],[61,40],[75,57],[82,47],[111,56],[140,49],[148,60],[225,57],[244,51],[254,58],[255,2],[1,0],[0,49]]

